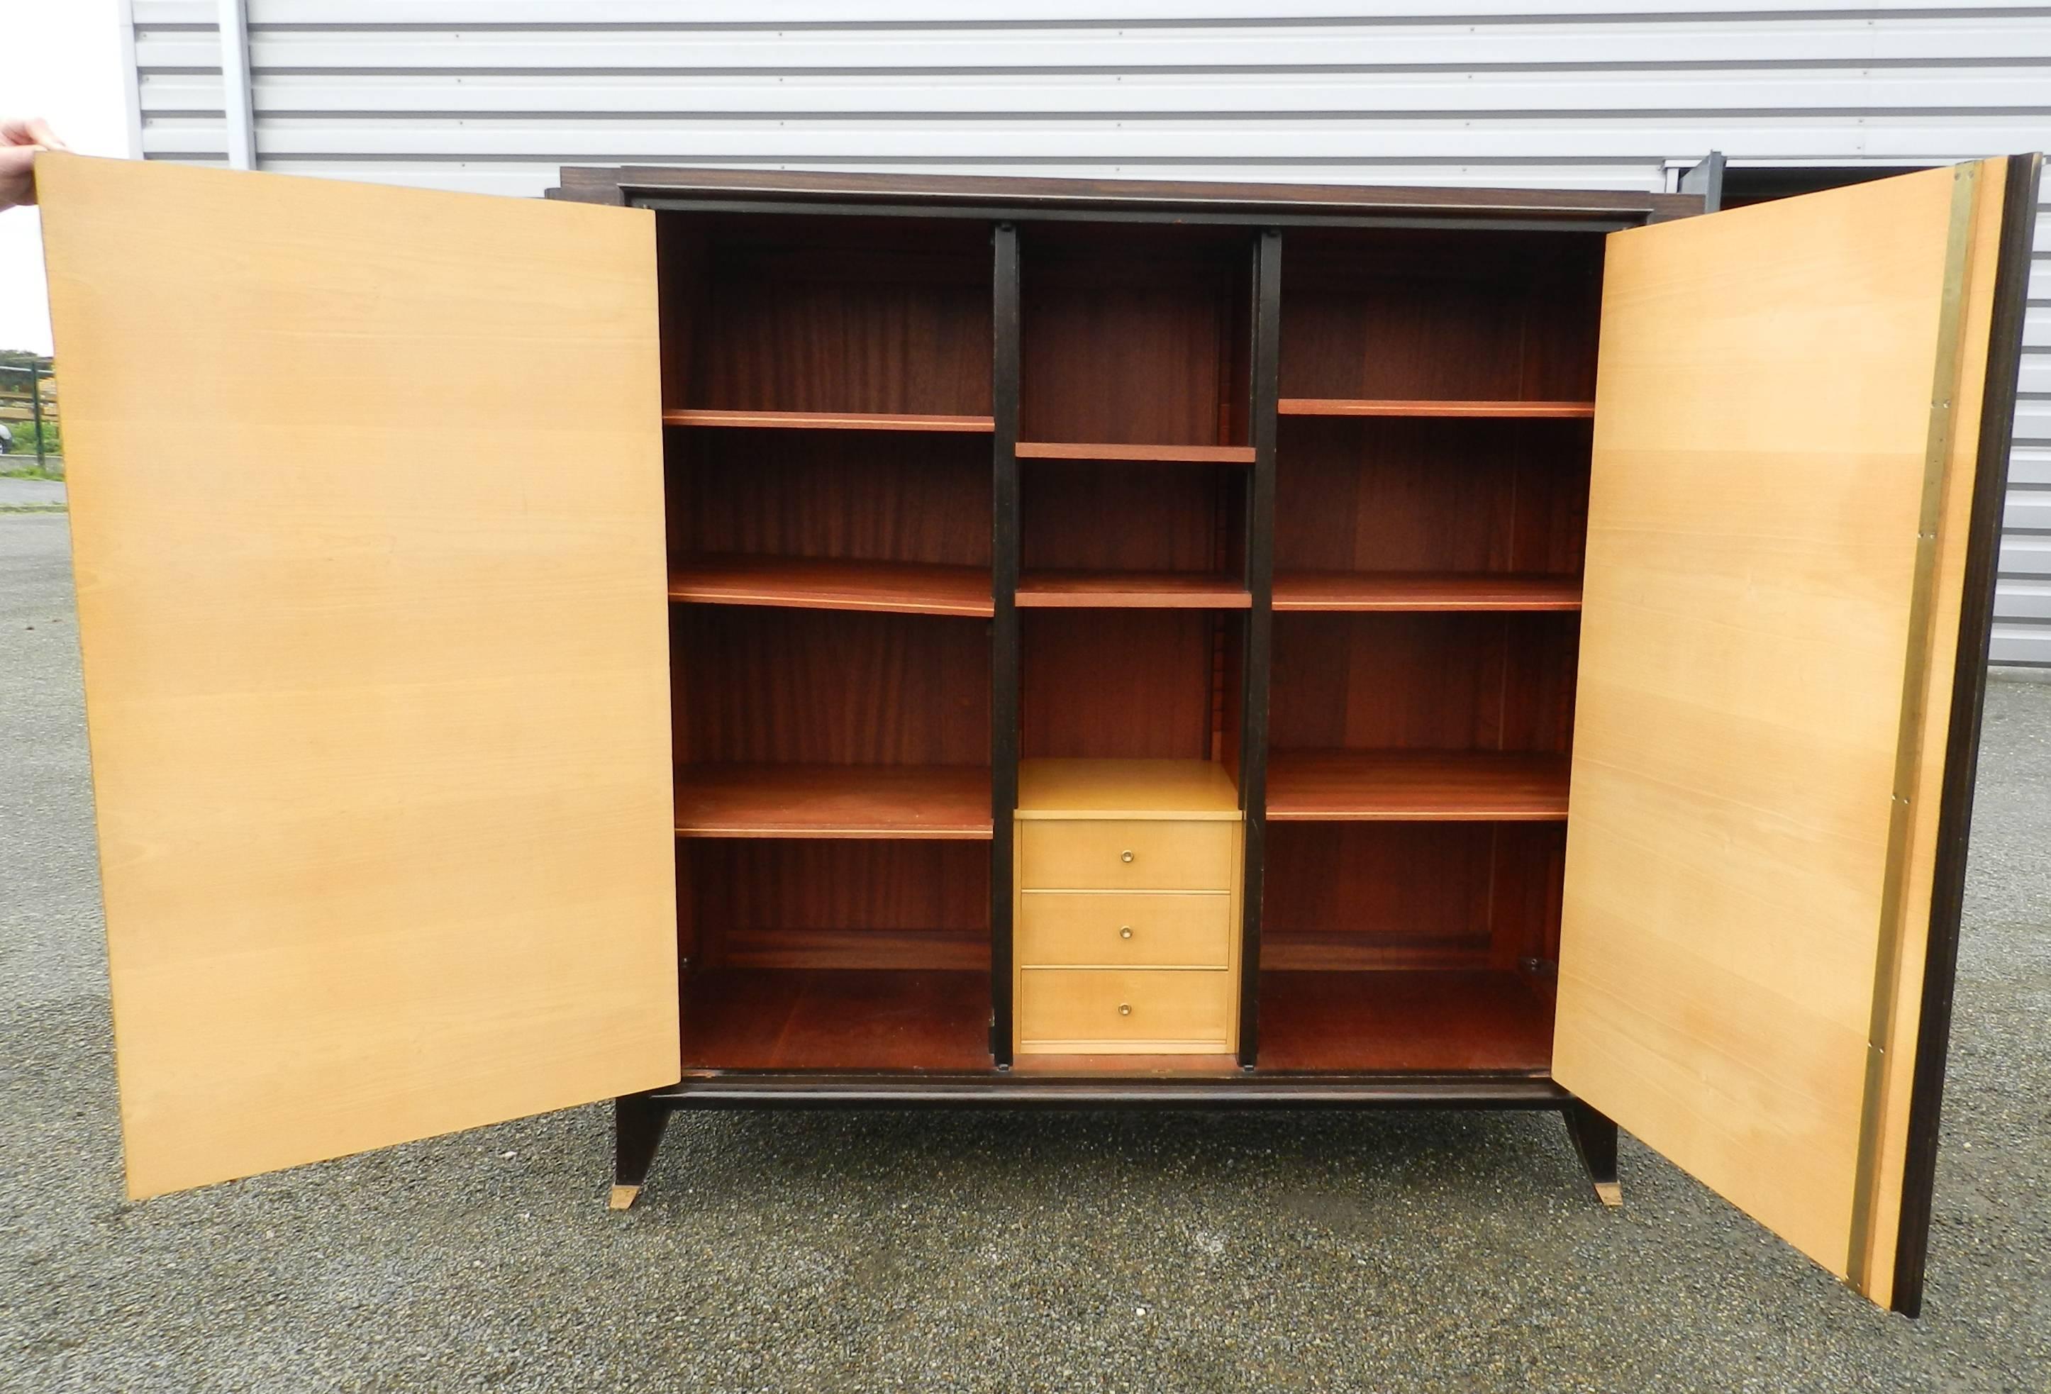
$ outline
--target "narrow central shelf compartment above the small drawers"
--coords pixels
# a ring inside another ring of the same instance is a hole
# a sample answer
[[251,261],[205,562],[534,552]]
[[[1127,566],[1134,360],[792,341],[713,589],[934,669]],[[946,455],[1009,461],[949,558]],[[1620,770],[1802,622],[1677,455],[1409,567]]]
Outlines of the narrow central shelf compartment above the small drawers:
[[1237,773],[1249,248],[1241,228],[1019,234],[1023,758]]

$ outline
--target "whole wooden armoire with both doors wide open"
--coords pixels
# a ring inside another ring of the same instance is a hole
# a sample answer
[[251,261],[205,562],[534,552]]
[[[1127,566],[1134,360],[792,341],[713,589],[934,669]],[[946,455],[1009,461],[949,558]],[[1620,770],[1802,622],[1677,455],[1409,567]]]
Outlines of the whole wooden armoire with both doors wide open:
[[37,170],[131,1195],[1557,1109],[1918,1308],[2037,156]]

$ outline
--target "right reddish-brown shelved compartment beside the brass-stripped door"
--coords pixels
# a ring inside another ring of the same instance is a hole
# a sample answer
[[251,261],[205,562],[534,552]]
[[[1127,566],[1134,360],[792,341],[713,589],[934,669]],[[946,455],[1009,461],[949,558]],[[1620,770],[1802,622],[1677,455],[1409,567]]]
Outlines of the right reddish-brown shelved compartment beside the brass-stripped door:
[[1600,258],[1286,238],[1261,1066],[1551,1064]]

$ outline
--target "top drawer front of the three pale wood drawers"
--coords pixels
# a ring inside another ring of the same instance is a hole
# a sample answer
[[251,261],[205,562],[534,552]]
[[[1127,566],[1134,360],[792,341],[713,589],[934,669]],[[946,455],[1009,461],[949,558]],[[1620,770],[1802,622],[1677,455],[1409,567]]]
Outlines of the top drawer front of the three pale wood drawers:
[[1026,890],[1231,890],[1239,824],[1196,820],[1019,820]]

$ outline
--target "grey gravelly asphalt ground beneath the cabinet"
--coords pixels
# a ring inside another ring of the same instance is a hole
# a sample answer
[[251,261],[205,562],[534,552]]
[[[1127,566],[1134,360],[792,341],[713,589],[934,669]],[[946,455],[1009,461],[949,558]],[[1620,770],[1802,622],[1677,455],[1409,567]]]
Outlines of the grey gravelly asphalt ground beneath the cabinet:
[[1514,1113],[574,1109],[127,1205],[62,517],[0,519],[0,1388],[2051,1388],[2051,687],[1989,693],[1926,1318]]

